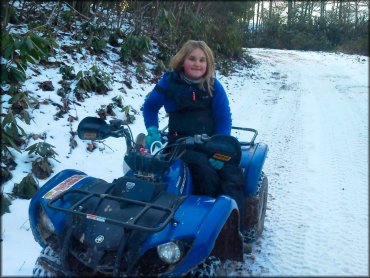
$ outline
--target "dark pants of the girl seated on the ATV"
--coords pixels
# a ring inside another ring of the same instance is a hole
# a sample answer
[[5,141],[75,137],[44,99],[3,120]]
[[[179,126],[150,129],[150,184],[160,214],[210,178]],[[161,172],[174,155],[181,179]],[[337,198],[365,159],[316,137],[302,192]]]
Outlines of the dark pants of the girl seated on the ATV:
[[[193,150],[186,150],[181,159],[189,166],[194,194],[214,198],[221,194],[228,195],[236,201],[240,219],[244,219],[244,175],[241,167],[225,163],[220,170],[216,170],[209,163],[206,154]],[[241,230],[243,231],[243,227]]]

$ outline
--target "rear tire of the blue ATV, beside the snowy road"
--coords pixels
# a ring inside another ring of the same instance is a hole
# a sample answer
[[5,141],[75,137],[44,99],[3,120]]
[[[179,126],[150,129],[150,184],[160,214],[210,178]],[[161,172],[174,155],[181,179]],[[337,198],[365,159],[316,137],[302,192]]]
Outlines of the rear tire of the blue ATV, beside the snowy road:
[[243,233],[247,243],[255,241],[263,231],[265,224],[266,206],[268,195],[268,180],[264,172],[261,172],[258,181],[257,194],[255,197],[246,199],[245,222],[246,231]]

